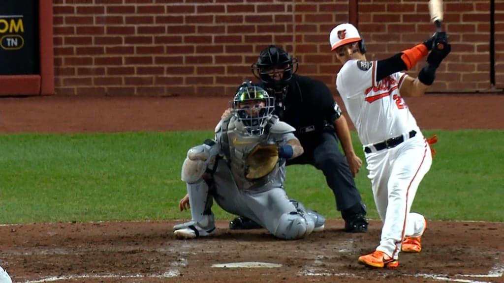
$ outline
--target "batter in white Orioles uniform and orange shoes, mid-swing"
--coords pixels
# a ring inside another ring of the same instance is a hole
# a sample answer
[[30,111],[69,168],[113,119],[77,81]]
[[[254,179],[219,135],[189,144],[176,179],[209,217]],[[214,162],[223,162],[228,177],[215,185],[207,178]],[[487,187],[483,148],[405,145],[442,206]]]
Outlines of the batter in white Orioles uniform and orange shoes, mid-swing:
[[[336,88],[363,145],[376,209],[383,221],[380,245],[359,262],[374,267],[397,267],[399,252],[420,252],[426,220],[410,213],[418,185],[432,163],[429,144],[403,96],[423,95],[435,70],[450,53],[448,36],[434,34],[425,42],[390,58],[367,61],[363,38],[351,24],[330,34],[331,50],[343,64]],[[444,43],[439,50],[437,43]],[[424,56],[417,78],[411,69]]]

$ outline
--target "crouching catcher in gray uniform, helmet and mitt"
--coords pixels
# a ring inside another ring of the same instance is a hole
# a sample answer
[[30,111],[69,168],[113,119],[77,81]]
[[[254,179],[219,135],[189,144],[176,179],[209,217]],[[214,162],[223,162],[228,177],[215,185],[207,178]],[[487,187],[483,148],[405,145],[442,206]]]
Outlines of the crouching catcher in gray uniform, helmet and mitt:
[[188,151],[181,175],[192,221],[176,225],[176,237],[215,234],[213,199],[280,239],[299,239],[324,228],[324,217],[291,202],[283,189],[285,161],[303,149],[295,129],[272,115],[273,110],[274,98],[245,82],[232,101],[232,114],[218,123],[215,140]]

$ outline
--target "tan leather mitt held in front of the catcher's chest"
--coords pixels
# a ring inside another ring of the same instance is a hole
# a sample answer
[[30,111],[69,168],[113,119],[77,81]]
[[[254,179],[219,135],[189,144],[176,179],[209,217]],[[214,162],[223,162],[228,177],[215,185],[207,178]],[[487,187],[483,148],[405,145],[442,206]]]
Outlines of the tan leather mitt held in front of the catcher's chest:
[[262,178],[270,173],[278,162],[278,146],[276,144],[258,144],[245,158],[245,177],[247,179]]

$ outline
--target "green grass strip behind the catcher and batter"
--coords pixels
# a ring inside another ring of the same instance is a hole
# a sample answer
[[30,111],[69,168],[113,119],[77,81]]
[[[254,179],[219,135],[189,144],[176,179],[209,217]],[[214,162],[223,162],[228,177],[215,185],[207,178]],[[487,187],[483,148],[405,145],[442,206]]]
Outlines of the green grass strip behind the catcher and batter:
[[[413,210],[428,219],[504,221],[503,131],[437,133],[437,154]],[[352,132],[354,147],[363,159]],[[0,135],[0,223],[187,219],[180,166],[210,131]],[[356,178],[377,219],[365,163]],[[286,190],[328,218],[339,218],[322,172],[289,166]],[[220,208],[216,217],[231,219]]]

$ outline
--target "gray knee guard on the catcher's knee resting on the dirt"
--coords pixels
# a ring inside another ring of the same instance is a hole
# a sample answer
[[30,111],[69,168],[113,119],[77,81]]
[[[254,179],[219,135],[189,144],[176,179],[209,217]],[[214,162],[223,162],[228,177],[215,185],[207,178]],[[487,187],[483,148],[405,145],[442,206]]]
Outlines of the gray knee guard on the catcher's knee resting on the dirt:
[[295,240],[309,235],[313,231],[313,223],[308,223],[296,211],[283,214],[275,233],[275,237],[284,240]]

